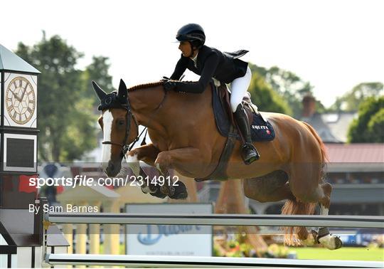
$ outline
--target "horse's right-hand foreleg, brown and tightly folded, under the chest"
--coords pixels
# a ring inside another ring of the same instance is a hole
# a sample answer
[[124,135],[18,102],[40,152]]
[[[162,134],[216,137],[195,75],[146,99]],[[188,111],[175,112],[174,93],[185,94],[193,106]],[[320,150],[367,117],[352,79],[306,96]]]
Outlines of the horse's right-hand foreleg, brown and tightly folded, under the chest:
[[191,164],[200,158],[200,150],[194,147],[183,147],[166,152],[160,152],[157,155],[155,165],[159,172],[164,176],[164,184],[160,190],[171,199],[186,199],[188,196],[186,186],[181,181],[174,182],[169,176],[169,169],[175,167],[175,164]]

